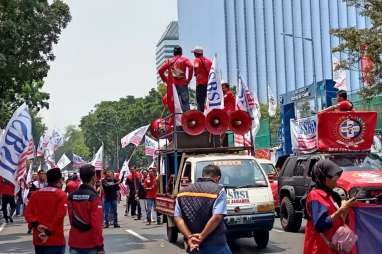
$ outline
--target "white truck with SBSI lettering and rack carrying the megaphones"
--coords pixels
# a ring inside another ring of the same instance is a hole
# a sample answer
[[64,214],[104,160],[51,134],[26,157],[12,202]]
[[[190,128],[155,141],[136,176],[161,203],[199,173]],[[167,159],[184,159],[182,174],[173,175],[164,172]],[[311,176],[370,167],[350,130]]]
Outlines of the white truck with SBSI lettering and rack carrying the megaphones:
[[177,194],[182,187],[202,177],[205,166],[213,164],[220,167],[220,184],[227,192],[228,215],[224,222],[228,239],[253,237],[258,247],[265,248],[275,218],[267,175],[249,155],[253,146],[230,147],[216,143],[219,138],[211,140],[208,133],[192,137],[180,131],[175,133],[172,145],[159,150],[160,188],[156,210],[164,215],[168,241],[176,242],[179,234],[174,223]]

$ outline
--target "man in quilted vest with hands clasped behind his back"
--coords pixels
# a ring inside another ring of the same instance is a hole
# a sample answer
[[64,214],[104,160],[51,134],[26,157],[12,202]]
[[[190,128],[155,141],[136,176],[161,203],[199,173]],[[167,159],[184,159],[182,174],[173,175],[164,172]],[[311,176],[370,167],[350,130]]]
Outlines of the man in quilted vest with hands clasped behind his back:
[[203,178],[180,190],[176,199],[175,224],[184,235],[192,253],[230,254],[224,216],[227,215],[227,196],[219,185],[220,168],[207,165]]

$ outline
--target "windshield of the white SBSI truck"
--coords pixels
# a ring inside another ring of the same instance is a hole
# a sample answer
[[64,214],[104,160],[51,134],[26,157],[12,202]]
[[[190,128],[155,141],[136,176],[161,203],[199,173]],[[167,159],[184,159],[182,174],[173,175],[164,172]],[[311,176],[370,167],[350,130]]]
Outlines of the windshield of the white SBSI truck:
[[201,161],[196,163],[196,177],[201,178],[203,168],[209,164],[220,167],[220,184],[226,187],[266,187],[268,186],[260,166],[250,159]]

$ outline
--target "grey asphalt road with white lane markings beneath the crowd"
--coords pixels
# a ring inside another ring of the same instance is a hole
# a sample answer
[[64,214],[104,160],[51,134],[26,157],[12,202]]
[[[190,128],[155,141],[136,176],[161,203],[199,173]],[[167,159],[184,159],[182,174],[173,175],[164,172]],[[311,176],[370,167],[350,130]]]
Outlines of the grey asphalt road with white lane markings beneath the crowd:
[[[124,217],[120,207],[121,228],[104,230],[106,253],[129,254],[169,254],[185,253],[182,242],[176,245],[166,241],[164,225],[147,226],[142,221],[135,221],[131,217]],[[26,234],[26,224],[21,217],[15,217],[13,224],[0,224],[0,253],[34,253],[32,236]],[[0,222],[2,223],[2,222]],[[69,225],[65,223],[66,234]],[[66,235],[67,237],[67,235]],[[275,221],[270,234],[270,243],[265,249],[257,249],[253,239],[240,239],[232,245],[233,253],[302,253],[304,233],[286,233],[282,231],[280,222]]]

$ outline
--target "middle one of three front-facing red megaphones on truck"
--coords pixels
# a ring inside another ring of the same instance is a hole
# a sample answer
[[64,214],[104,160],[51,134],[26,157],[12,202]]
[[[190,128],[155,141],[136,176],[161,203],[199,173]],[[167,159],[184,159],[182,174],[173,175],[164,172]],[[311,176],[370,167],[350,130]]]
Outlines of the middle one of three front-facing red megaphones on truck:
[[213,135],[221,135],[228,129],[228,114],[222,109],[211,110],[206,117],[206,128]]

